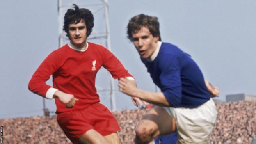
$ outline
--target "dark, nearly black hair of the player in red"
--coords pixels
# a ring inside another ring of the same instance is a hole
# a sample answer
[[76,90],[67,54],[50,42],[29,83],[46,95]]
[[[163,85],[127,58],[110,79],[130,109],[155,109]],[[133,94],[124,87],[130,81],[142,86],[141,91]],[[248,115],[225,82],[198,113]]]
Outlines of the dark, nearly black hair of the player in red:
[[63,30],[66,32],[66,36],[69,37],[69,25],[77,24],[81,20],[85,22],[87,29],[87,37],[91,34],[92,28],[94,27],[94,16],[89,9],[81,8],[73,4],[75,9],[68,9],[64,16]]

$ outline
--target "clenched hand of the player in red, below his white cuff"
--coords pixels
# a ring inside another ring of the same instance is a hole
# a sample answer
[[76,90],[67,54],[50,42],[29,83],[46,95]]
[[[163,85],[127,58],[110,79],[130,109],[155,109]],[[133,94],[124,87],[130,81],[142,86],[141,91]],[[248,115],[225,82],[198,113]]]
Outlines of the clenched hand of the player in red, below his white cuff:
[[72,94],[66,94],[62,91],[56,91],[54,93],[54,98],[59,98],[59,101],[66,105],[66,108],[72,108],[75,105],[75,102],[78,101]]

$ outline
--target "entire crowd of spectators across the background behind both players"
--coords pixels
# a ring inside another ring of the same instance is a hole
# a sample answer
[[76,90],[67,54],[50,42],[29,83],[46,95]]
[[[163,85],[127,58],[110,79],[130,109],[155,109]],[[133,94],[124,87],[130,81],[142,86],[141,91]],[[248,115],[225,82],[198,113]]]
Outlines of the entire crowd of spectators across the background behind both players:
[[[209,144],[250,144],[256,136],[256,101],[216,103],[218,116]],[[113,112],[120,124],[119,137],[133,144],[135,127],[146,109]],[[4,144],[71,144],[59,128],[56,115],[0,119]]]

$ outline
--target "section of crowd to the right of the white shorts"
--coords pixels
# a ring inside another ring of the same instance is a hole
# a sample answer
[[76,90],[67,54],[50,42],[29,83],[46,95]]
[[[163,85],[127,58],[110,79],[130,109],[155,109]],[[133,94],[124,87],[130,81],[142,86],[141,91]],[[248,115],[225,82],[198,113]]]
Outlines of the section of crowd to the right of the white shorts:
[[218,115],[210,144],[250,144],[256,136],[256,101],[216,103]]

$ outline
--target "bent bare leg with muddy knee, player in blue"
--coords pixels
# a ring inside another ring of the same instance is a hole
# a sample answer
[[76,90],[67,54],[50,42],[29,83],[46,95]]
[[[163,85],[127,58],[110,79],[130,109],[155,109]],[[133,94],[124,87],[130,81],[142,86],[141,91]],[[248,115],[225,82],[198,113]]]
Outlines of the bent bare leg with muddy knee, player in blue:
[[176,131],[175,120],[163,107],[154,107],[139,122],[135,133],[135,144],[148,144],[159,135]]

